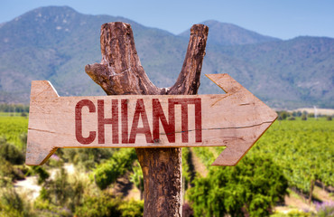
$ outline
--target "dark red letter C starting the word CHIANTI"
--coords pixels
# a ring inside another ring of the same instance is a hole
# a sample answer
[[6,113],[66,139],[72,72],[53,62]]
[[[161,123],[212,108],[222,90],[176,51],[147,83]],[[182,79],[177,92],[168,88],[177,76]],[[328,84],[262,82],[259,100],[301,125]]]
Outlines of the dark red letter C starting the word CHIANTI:
[[88,99],[82,99],[80,100],[75,108],[75,130],[76,130],[76,138],[79,143],[88,145],[92,143],[97,137],[96,131],[89,131],[88,137],[82,136],[82,108],[84,106],[87,106],[90,113],[96,112],[96,108],[94,106],[94,103]]

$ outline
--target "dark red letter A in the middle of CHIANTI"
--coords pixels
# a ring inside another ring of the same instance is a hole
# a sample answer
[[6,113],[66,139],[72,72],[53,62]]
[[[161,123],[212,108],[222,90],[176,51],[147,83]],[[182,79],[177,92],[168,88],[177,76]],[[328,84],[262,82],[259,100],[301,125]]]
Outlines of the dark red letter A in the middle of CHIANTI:
[[[139,117],[142,117],[143,127],[138,127]],[[143,99],[137,99],[137,103],[135,105],[135,115],[134,115],[134,120],[132,122],[129,143],[135,143],[135,136],[138,133],[145,135],[147,143],[153,143],[152,134],[150,126],[148,124],[148,119]]]

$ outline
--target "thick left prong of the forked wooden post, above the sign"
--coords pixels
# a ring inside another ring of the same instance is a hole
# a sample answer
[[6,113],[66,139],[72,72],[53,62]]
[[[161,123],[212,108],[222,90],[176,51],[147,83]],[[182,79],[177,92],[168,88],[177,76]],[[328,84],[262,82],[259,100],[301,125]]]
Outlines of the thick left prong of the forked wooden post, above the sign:
[[161,93],[144,72],[130,24],[103,24],[100,42],[102,61],[86,65],[85,71],[107,95]]

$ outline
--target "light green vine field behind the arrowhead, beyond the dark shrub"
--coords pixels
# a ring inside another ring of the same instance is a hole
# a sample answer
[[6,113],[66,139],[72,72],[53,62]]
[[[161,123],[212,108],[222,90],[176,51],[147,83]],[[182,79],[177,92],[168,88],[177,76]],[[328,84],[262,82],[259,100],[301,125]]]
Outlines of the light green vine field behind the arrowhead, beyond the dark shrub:
[[[192,148],[203,164],[224,147]],[[246,156],[266,156],[283,169],[289,186],[310,193],[315,182],[334,185],[334,123],[323,119],[276,121]]]

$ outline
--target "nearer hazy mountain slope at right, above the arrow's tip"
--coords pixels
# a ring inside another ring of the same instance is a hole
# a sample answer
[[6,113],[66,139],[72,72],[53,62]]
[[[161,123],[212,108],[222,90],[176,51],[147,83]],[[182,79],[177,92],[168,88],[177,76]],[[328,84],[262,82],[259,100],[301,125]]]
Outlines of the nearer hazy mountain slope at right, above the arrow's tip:
[[274,108],[334,108],[332,38],[218,47],[207,54],[203,71],[229,73]]

